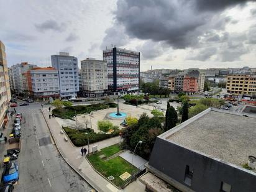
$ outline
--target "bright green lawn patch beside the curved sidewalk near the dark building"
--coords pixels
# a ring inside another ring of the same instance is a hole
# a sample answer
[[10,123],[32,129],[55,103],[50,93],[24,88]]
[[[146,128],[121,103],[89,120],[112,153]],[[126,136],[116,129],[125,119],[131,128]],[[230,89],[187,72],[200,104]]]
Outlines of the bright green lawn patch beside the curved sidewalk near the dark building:
[[134,166],[131,167],[130,163],[124,160],[123,158],[117,156],[115,158],[112,158],[111,160],[105,161],[99,158],[99,155],[105,155],[106,157],[111,157],[115,153],[119,152],[121,149],[118,144],[112,145],[110,147],[106,147],[104,149],[101,149],[100,152],[95,153],[93,155],[90,155],[88,157],[89,162],[93,165],[93,167],[98,170],[102,175],[104,175],[106,178],[108,176],[114,176],[114,180],[112,182],[117,185],[121,186],[121,184],[124,182],[119,178],[120,175],[122,175],[124,172],[130,173],[136,173],[138,171],[137,168]]

